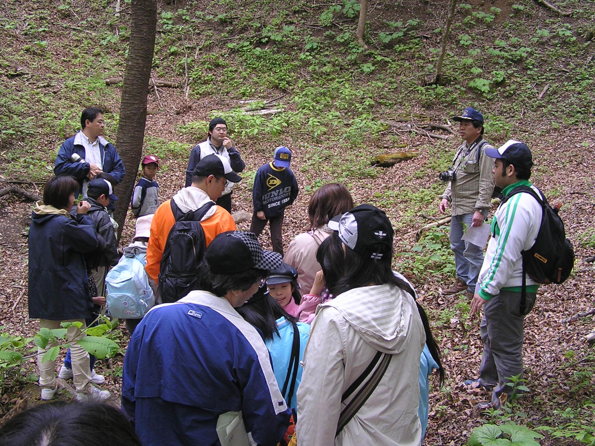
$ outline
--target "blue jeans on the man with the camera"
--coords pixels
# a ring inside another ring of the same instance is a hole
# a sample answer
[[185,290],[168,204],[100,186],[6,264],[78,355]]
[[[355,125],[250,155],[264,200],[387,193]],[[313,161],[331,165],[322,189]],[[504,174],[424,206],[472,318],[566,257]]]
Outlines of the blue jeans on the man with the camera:
[[464,234],[463,223],[469,227],[472,219],[473,213],[464,213],[454,215],[450,220],[450,249],[455,254],[456,277],[465,282],[469,291],[474,293],[483,263],[483,247],[461,240]]

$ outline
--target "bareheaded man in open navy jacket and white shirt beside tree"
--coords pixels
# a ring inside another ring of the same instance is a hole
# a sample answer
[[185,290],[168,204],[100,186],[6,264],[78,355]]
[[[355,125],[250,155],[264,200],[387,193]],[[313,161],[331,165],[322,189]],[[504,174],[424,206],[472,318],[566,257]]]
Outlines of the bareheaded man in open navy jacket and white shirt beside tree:
[[[102,136],[104,112],[96,107],[87,107],[81,114],[80,126],[82,130],[60,146],[54,174],[76,178],[80,185],[78,193],[83,195],[86,195],[89,181],[99,172],[110,174],[116,184],[120,183],[126,173],[124,163],[114,145]],[[112,213],[114,209],[114,202],[109,203],[108,211]]]

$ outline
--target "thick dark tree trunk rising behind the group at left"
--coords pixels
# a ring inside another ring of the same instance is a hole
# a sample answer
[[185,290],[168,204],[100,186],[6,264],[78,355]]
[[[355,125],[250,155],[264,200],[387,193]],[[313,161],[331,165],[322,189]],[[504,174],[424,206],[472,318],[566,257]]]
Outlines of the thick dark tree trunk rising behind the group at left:
[[126,168],[124,179],[115,187],[115,193],[120,199],[114,212],[115,221],[120,225],[118,238],[124,228],[143,151],[147,86],[151,77],[155,51],[156,0],[132,0],[131,12],[130,45],[126,60],[126,72],[124,73],[116,144],[118,153],[124,162],[124,168]]

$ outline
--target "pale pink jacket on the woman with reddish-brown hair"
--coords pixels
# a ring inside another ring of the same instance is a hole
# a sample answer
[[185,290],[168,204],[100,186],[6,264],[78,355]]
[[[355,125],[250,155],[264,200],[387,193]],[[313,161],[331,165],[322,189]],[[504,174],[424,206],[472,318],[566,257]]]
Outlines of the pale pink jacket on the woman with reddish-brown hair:
[[327,225],[324,225],[314,231],[296,235],[287,248],[283,262],[297,269],[297,282],[302,296],[310,292],[316,273],[321,269],[320,263],[316,261],[316,250],[331,233]]

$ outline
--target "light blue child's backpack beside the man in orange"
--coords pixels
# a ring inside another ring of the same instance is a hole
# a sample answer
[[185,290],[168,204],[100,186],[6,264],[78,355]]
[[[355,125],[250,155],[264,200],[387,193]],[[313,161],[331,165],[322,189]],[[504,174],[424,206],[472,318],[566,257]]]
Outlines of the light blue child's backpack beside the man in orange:
[[142,319],[155,304],[145,272],[146,247],[128,246],[105,277],[109,313],[120,319]]

